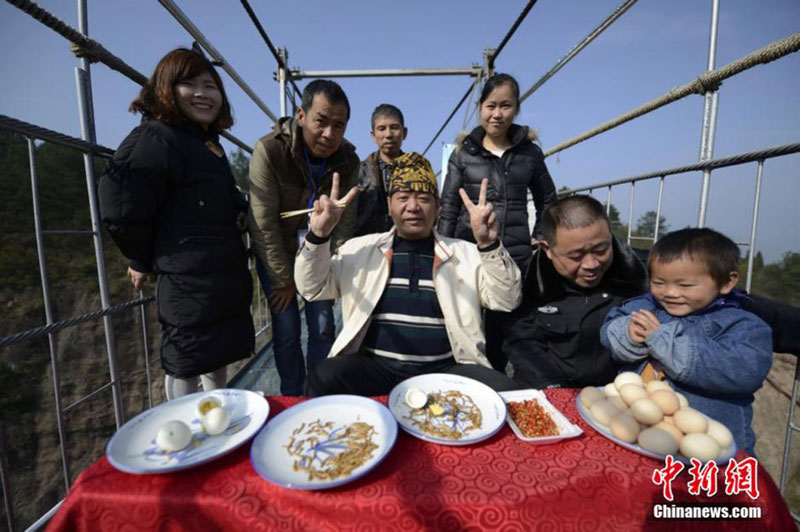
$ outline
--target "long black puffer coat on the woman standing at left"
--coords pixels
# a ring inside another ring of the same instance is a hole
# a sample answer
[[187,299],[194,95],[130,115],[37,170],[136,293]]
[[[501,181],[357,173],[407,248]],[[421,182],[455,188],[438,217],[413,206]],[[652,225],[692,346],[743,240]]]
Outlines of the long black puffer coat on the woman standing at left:
[[194,377],[250,356],[253,288],[236,224],[246,205],[217,136],[144,118],[106,167],[98,195],[131,267],[158,275],[164,371]]

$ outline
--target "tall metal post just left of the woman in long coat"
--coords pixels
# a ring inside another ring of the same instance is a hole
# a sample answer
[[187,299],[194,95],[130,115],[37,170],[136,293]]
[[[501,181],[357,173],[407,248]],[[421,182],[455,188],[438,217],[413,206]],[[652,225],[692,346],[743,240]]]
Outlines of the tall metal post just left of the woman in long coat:
[[[87,0],[78,0],[79,31],[88,37]],[[75,82],[78,89],[78,111],[81,120],[81,138],[87,142],[95,143],[95,129],[93,120],[93,104],[91,93],[91,76],[89,73],[89,59],[81,58],[81,66],[75,69]],[[106,276],[106,259],[103,252],[103,234],[100,231],[100,213],[97,207],[96,181],[94,177],[94,158],[89,153],[83,154],[83,165],[86,169],[86,191],[89,196],[89,213],[92,219],[94,233],[94,254],[97,262],[97,281],[100,288],[100,303],[103,309],[111,306],[108,294],[108,277]],[[119,371],[117,369],[117,353],[114,346],[114,328],[111,316],[103,316],[103,328],[106,336],[106,350],[108,351],[108,369],[111,375],[111,396],[114,400],[114,419],[117,428],[124,422],[122,411],[122,397],[120,393]]]

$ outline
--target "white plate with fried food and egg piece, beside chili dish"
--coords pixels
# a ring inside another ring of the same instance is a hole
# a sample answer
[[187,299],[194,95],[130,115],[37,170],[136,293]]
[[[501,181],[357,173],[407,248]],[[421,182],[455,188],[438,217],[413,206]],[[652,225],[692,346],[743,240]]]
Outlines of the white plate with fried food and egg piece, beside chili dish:
[[[458,392],[452,401],[443,404],[443,412],[432,415],[428,407],[412,409],[405,402],[406,393],[417,388],[424,393]],[[474,427],[474,411],[480,411],[480,426]],[[470,445],[493,436],[506,420],[506,404],[500,395],[468,377],[449,373],[429,373],[406,379],[389,393],[389,410],[409,434],[443,445]],[[427,429],[427,430],[426,430]],[[457,433],[458,438],[443,437],[443,432]]]

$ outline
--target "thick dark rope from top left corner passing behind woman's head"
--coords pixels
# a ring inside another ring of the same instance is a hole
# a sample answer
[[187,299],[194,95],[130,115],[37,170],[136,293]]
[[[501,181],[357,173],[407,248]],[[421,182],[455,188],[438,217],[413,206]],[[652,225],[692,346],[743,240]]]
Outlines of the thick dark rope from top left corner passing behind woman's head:
[[[44,8],[39,7],[39,5],[37,5],[35,2],[31,2],[30,0],[6,0],[6,2],[24,11],[68,41],[72,42],[70,49],[76,56],[85,57],[92,63],[103,63],[108,68],[116,70],[123,76],[134,81],[135,83],[138,83],[139,85],[144,85],[147,83],[147,76],[125,63],[125,61],[116,55],[109,52],[99,42],[86,37],[75,28],[69,26],[58,17],[49,13]],[[220,135],[246,152],[253,153],[253,149],[250,146],[233,136],[228,131],[222,131],[220,132]]]

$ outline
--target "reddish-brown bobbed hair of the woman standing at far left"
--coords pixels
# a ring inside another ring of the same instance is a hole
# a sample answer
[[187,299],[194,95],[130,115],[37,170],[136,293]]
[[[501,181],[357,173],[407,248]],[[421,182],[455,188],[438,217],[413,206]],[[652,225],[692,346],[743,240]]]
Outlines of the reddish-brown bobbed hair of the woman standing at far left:
[[231,104],[225,94],[225,87],[222,86],[222,79],[208,59],[186,48],[176,48],[161,58],[153,75],[139,91],[139,96],[131,102],[129,111],[151,115],[173,126],[180,124],[184,116],[175,102],[175,84],[203,72],[211,74],[222,95],[219,114],[211,127],[217,130],[231,127],[233,125]]

